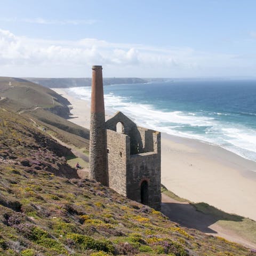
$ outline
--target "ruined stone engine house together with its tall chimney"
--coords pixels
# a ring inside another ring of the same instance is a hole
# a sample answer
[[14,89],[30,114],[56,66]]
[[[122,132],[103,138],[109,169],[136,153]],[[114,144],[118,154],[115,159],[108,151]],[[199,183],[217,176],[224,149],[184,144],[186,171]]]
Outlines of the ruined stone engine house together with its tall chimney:
[[117,112],[105,122],[102,67],[92,67],[90,177],[161,209],[161,134]]

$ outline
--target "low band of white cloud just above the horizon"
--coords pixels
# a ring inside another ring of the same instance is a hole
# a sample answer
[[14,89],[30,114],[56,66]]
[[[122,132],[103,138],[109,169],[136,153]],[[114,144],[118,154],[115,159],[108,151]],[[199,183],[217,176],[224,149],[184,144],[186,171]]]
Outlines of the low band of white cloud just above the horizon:
[[95,38],[50,41],[0,29],[1,76],[89,77],[102,65],[108,77],[255,75],[255,58],[190,47],[120,44]]

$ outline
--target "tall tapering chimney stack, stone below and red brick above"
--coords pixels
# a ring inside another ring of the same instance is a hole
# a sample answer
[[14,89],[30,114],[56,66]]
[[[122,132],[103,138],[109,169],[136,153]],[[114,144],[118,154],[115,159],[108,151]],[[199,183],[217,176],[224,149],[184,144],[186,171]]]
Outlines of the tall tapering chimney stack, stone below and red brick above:
[[101,66],[92,66],[89,165],[90,178],[108,186],[107,132]]

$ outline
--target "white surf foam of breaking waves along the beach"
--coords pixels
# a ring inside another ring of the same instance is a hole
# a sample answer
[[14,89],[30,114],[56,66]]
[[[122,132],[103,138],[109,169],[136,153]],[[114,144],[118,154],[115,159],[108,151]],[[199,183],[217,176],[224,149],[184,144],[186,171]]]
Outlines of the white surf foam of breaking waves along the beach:
[[[84,100],[91,98],[91,87],[73,87],[69,92]],[[256,131],[243,125],[234,128],[234,124],[214,117],[228,114],[209,113],[204,116],[191,111],[162,111],[152,105],[132,102],[131,98],[117,96],[113,92],[105,94],[105,108],[111,114],[122,111],[139,126],[209,142],[256,161]]]

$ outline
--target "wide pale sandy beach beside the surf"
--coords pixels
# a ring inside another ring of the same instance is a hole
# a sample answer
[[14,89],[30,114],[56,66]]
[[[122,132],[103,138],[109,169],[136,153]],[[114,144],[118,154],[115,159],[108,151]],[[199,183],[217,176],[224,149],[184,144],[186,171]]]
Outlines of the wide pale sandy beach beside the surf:
[[[69,121],[90,128],[90,102],[53,89],[73,109]],[[109,116],[106,116],[108,119]],[[256,162],[218,146],[162,133],[162,184],[180,197],[256,221]]]

